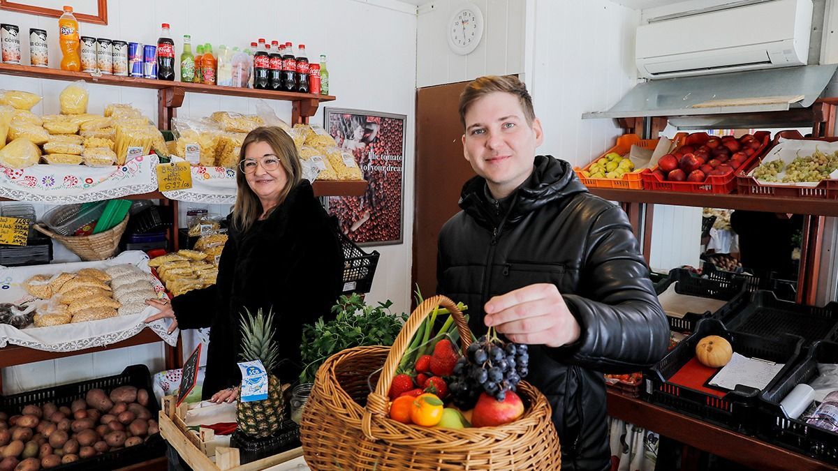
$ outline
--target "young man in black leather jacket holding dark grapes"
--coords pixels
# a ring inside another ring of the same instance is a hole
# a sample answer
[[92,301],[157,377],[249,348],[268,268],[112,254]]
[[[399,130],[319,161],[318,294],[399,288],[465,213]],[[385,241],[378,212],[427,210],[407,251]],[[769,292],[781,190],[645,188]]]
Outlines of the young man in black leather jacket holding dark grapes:
[[442,227],[438,292],[530,345],[526,377],[551,403],[561,468],[610,467],[603,372],[660,360],[669,325],[618,207],[587,192],[542,142],[524,84],[474,80],[460,96],[463,153],[477,177]]

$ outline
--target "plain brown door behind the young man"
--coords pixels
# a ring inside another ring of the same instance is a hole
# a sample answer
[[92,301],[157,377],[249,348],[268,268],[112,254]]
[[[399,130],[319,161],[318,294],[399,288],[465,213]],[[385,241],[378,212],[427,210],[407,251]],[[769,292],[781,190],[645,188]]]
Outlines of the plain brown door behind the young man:
[[416,197],[413,219],[413,270],[428,298],[437,292],[437,237],[445,221],[460,210],[466,180],[474,176],[463,158],[463,125],[458,115],[461,82],[421,88],[416,93]]

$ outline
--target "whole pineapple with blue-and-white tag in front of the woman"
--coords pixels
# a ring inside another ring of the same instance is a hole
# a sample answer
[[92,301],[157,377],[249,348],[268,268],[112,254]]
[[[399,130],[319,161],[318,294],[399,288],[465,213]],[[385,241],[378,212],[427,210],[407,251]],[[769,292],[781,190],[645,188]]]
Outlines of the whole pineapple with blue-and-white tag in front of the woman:
[[241,316],[241,361],[261,360],[268,375],[267,399],[241,402],[235,411],[239,430],[248,437],[269,437],[285,418],[285,404],[279,378],[272,375],[277,365],[277,344],[273,339],[273,313],[259,309],[256,316],[246,310]]

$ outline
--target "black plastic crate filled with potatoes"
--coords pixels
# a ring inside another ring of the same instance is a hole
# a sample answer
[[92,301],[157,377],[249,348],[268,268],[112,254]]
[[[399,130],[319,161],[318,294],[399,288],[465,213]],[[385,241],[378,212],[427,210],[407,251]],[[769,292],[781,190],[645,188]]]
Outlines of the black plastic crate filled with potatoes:
[[[137,389],[148,391],[148,411],[157,420],[160,405],[152,389],[152,375],[146,365],[131,365],[119,375],[85,380],[68,385],[54,386],[36,391],[22,392],[13,396],[0,396],[0,410],[14,415],[23,410],[23,406],[34,404],[40,406],[46,402],[53,402],[56,406],[70,406],[76,399],[84,398],[87,391],[100,388],[106,393],[118,386],[137,386]],[[85,471],[106,471],[122,468],[134,463],[141,463],[152,458],[162,457],[166,452],[166,443],[160,433],[148,437],[143,443],[129,448],[96,455],[92,458],[80,459],[75,463],[66,463],[52,469],[84,469]]]

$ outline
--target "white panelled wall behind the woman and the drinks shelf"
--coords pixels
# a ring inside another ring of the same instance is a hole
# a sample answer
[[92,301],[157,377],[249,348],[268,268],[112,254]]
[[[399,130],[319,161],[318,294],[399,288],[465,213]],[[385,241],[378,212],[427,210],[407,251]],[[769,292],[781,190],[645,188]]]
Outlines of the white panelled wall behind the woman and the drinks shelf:
[[[44,28],[49,39],[49,62],[59,64],[57,18],[39,17],[3,11],[3,23],[17,24],[27,38],[29,28]],[[385,111],[408,116],[406,123],[406,165],[404,195],[404,243],[398,246],[370,247],[381,257],[370,302],[391,299],[398,312],[410,308],[411,237],[413,205],[413,149],[416,88],[416,8],[396,0],[254,0],[229,3],[222,0],[167,2],[154,0],[139,5],[130,2],[108,3],[107,25],[81,23],[85,36],[106,37],[153,44],[160,23],[172,26],[179,57],[184,34],[191,34],[193,44],[210,42],[228,47],[249,46],[251,41],[292,41],[306,44],[309,59],[328,56],[331,94],[336,101],[325,106]],[[373,25],[373,26],[370,26]],[[28,60],[28,40],[23,39],[24,62]],[[36,114],[59,111],[58,95],[66,82],[24,79],[0,75],[0,89],[32,91],[44,96],[34,108]],[[111,102],[130,102],[147,116],[157,118],[157,94],[134,88],[91,85],[89,110],[101,112]],[[251,99],[231,96],[188,94],[179,116],[207,116],[213,111],[255,112]],[[291,104],[275,101],[277,115],[290,120]],[[312,123],[323,124],[322,106]],[[185,205],[185,204],[184,204]],[[218,209],[221,210],[221,209]],[[190,345],[186,346],[189,353]],[[163,368],[163,349],[143,345],[95,355],[49,360],[3,370],[3,392],[27,391],[37,387],[89,379],[118,373],[125,365],[147,363],[151,370]]]

